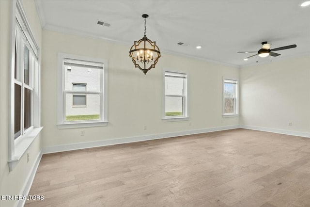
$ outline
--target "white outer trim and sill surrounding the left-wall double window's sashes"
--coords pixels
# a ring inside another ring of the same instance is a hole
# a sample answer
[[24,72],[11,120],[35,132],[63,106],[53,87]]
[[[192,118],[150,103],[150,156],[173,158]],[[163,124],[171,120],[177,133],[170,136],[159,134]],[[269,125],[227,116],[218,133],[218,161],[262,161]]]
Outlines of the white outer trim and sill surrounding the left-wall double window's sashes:
[[[9,87],[9,100],[11,103],[15,103],[15,36],[16,36],[16,16],[20,23],[23,24],[22,28],[23,30],[27,31],[27,40],[31,42],[31,49],[35,53],[35,56],[38,56],[39,54],[39,47],[36,43],[36,40],[33,36],[33,32],[31,30],[31,27],[28,23],[26,13],[22,7],[22,4],[19,0],[12,0],[11,1],[11,17],[10,17],[10,51],[9,51],[9,57],[11,60],[10,68],[11,73],[9,73],[9,81],[10,81],[10,87]],[[27,43],[26,43],[27,44]],[[36,65],[34,65],[36,66]],[[15,133],[14,133],[14,104],[9,104],[9,136],[8,136],[8,143],[9,143],[9,156],[8,156],[8,163],[9,163],[9,171],[13,171],[15,166],[18,164],[19,160],[25,152],[28,150],[28,148],[31,146],[31,143],[35,140],[35,138],[38,136],[40,131],[43,127],[41,127],[41,102],[40,102],[40,58],[38,58],[38,65],[37,68],[34,69],[34,80],[33,80],[33,98],[32,98],[32,126],[29,127],[24,131],[24,133],[15,139]]]

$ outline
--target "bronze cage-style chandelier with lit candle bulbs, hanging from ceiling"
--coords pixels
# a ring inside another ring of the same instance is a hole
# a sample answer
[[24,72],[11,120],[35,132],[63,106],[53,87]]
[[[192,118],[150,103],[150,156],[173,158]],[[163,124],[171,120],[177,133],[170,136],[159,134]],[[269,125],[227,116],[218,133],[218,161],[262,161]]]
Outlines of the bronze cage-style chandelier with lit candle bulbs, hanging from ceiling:
[[134,45],[130,48],[129,57],[131,57],[135,67],[142,70],[145,75],[147,71],[153,67],[155,68],[155,64],[158,62],[161,54],[155,41],[152,42],[146,37],[146,18],[149,16],[144,14],[142,17],[144,18],[144,37],[135,41]]

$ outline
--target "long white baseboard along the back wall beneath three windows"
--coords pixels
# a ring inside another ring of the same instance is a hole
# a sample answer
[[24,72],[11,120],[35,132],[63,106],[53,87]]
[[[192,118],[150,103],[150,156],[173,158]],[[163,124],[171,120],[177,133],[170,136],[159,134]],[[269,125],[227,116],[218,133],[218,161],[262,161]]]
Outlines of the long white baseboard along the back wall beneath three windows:
[[114,145],[114,144],[134,143],[134,142],[141,142],[141,141],[147,141],[147,140],[163,139],[163,138],[185,136],[185,135],[192,135],[192,134],[201,134],[201,133],[206,133],[206,132],[222,131],[222,130],[235,129],[235,128],[239,128],[239,125],[203,128],[203,129],[195,129],[195,130],[189,130],[189,131],[178,131],[178,132],[170,132],[170,133],[165,133],[165,134],[151,134],[151,135],[137,136],[137,137],[116,138],[116,139],[111,139],[111,140],[93,141],[93,142],[85,142],[85,143],[62,144],[62,145],[44,147],[42,150],[42,153],[49,154],[49,153],[55,153],[55,152],[64,152],[64,151],[86,149],[86,148],[99,147],[99,146],[108,146],[108,145]]

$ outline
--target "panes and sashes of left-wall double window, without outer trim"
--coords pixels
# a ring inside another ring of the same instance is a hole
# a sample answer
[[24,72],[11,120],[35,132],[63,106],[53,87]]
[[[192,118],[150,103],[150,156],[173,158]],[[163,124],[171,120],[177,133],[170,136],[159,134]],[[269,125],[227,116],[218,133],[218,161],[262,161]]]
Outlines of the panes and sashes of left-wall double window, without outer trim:
[[[21,17],[16,16],[14,46],[14,139],[19,139],[33,128],[34,70],[38,68],[36,46],[23,29]],[[33,49],[35,48],[35,49]]]

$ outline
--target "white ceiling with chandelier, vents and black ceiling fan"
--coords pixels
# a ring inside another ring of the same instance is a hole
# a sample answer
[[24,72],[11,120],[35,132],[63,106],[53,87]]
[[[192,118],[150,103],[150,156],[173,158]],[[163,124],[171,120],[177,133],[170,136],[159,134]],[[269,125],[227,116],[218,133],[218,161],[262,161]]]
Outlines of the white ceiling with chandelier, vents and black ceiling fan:
[[[42,27],[128,45],[144,32],[163,53],[243,66],[270,61],[258,56],[261,42],[277,51],[273,61],[310,54],[310,6],[304,0],[36,0]],[[100,26],[101,20],[111,24]],[[183,42],[187,46],[179,46]],[[201,45],[201,49],[196,49]],[[129,58],[129,57],[128,57]],[[159,60],[160,61],[160,60]]]

